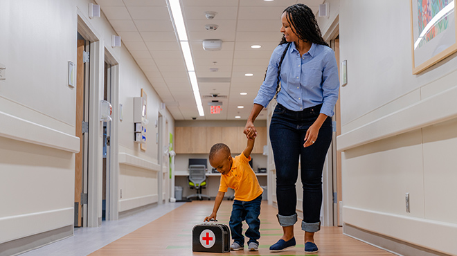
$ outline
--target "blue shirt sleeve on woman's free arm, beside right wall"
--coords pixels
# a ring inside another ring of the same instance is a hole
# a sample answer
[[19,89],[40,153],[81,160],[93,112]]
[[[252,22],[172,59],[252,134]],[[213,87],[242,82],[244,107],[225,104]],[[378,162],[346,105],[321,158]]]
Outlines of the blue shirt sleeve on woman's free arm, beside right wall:
[[323,104],[321,113],[327,116],[333,116],[333,108],[337,103],[339,92],[338,66],[334,51],[330,50],[325,53],[324,60],[325,65],[322,73]]

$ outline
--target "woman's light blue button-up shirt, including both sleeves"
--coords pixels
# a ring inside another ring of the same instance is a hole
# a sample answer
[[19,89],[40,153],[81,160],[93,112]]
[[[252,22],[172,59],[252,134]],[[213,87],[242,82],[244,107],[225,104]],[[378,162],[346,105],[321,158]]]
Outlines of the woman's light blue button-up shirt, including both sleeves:
[[[265,81],[254,103],[267,107],[276,94],[278,65],[287,44],[275,48],[271,54]],[[301,111],[323,104],[321,113],[333,116],[338,100],[339,77],[334,51],[328,46],[312,44],[310,51],[300,56],[295,44],[287,49],[280,73],[281,90],[278,103],[289,110]]]

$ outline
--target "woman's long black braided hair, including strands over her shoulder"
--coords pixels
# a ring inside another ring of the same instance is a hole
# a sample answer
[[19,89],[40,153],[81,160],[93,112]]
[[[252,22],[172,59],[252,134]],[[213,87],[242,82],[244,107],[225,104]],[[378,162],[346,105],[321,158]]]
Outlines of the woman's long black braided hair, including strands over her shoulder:
[[[291,24],[292,31],[294,31],[298,39],[301,39],[305,42],[328,46],[327,42],[325,42],[322,38],[321,29],[317,25],[316,17],[312,13],[311,8],[305,6],[303,3],[297,3],[293,6],[285,8],[283,13],[284,12],[286,12],[287,22]],[[278,65],[278,84],[276,85],[276,98],[278,98],[278,93],[281,90],[279,83],[281,64],[283,64],[284,57],[292,42],[287,42],[285,37],[283,37],[279,45],[282,44],[287,44],[287,46],[283,51],[283,55],[281,55],[281,59]],[[265,78],[267,78],[267,73],[265,73]]]

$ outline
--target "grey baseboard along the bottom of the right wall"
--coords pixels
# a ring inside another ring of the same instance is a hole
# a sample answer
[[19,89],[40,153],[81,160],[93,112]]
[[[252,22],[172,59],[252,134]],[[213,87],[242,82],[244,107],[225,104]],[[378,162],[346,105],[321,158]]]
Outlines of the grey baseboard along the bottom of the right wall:
[[382,248],[388,252],[396,255],[404,256],[451,256],[449,254],[440,253],[436,250],[430,250],[428,248],[416,246],[415,244],[409,244],[405,241],[379,235],[375,232],[370,232],[355,226],[343,223],[343,234],[349,237],[355,238],[360,241],[364,241],[367,244]]

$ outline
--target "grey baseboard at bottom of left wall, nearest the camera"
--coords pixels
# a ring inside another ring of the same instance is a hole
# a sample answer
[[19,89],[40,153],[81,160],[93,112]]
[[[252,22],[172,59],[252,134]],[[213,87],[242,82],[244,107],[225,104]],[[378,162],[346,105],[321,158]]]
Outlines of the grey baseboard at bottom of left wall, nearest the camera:
[[42,246],[46,246],[55,241],[59,241],[73,235],[73,225],[57,228],[37,235],[23,237],[6,243],[0,244],[0,256],[12,256],[25,253]]

